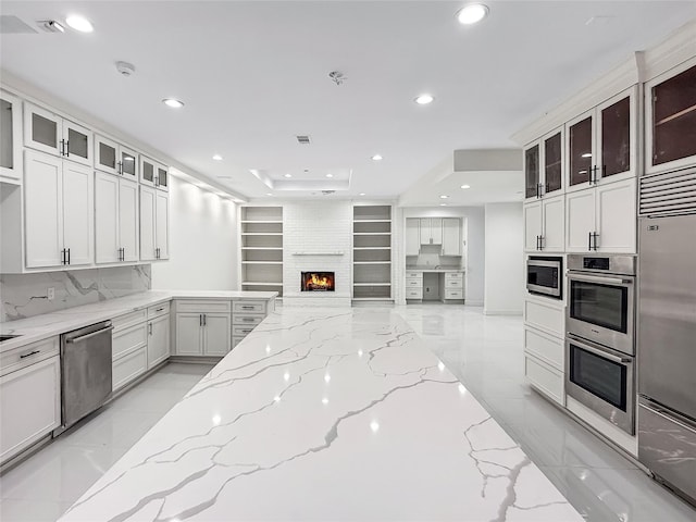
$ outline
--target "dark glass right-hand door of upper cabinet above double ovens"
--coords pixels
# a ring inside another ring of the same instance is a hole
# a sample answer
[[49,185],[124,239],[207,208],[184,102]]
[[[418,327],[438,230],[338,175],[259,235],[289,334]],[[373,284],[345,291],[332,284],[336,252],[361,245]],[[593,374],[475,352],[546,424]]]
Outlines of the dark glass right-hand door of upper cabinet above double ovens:
[[631,170],[631,98],[601,111],[601,177]]

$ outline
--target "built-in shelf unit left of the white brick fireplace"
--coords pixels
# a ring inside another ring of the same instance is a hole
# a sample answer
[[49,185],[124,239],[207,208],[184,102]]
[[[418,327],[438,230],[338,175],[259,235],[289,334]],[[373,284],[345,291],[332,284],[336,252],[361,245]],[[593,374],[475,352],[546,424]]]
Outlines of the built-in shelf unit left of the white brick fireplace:
[[283,207],[241,207],[241,287],[283,295]]

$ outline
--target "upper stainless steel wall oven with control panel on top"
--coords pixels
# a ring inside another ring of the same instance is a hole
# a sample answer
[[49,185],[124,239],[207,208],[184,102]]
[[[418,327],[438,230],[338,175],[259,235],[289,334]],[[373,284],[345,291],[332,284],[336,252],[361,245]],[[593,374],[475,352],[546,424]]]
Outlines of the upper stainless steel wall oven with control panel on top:
[[635,355],[635,258],[568,257],[568,334]]

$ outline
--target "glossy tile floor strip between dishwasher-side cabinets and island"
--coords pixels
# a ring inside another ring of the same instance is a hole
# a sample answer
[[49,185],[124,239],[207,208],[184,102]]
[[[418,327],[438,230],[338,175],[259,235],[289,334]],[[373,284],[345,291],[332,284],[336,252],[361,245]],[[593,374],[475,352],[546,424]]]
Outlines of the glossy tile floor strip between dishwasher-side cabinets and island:
[[58,519],[211,368],[165,365],[0,476],[0,520]]

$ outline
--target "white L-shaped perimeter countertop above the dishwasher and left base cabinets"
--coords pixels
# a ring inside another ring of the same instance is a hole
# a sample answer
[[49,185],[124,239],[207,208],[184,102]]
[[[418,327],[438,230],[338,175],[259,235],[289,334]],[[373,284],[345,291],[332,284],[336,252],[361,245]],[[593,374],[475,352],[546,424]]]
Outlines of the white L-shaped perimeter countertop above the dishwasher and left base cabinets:
[[149,290],[51,313],[0,323],[0,334],[18,335],[0,344],[0,352],[82,328],[172,299],[272,299],[276,291]]

